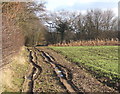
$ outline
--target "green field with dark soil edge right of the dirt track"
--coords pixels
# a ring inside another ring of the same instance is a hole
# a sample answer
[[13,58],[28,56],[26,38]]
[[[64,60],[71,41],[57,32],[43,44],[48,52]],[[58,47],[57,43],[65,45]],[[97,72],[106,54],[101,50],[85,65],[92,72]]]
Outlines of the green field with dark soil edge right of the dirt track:
[[118,46],[50,47],[67,60],[85,68],[100,82],[119,87]]

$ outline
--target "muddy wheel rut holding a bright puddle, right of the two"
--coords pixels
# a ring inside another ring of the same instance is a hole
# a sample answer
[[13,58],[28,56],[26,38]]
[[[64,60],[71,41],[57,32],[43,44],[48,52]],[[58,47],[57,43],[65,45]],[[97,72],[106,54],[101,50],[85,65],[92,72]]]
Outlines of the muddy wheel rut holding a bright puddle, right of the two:
[[42,57],[44,58],[45,62],[51,64],[54,69],[54,72],[59,77],[60,82],[64,85],[68,92],[76,92],[83,94],[83,91],[79,90],[72,82],[72,73],[66,67],[57,64],[55,59],[50,56],[48,53],[44,51],[40,51],[39,49],[35,48],[37,51],[41,52]]

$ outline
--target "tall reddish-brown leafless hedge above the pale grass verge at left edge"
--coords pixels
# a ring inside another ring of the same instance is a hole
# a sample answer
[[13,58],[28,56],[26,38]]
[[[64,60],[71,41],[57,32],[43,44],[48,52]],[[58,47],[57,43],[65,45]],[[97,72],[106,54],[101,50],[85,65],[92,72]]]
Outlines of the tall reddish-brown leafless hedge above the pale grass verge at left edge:
[[24,44],[21,29],[16,25],[18,14],[22,13],[22,3],[2,3],[2,59],[4,65]]

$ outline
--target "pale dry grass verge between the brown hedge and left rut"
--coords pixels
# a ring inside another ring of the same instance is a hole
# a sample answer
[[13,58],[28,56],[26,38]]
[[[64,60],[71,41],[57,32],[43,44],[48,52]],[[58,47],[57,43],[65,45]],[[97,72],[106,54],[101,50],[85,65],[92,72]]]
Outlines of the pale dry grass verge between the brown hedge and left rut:
[[12,62],[0,69],[0,93],[3,91],[20,91],[24,81],[23,75],[25,75],[28,69],[26,55],[27,53],[23,47],[16,56],[11,58]]

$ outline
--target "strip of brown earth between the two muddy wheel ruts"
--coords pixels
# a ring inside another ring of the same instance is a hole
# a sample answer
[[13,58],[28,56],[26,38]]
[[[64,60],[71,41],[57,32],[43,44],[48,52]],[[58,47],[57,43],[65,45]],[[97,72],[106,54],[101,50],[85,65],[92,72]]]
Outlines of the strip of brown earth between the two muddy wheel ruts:
[[[44,61],[41,53],[35,49],[30,50],[32,51],[32,62],[34,63],[33,65],[36,64],[34,66],[36,68],[36,71],[33,75],[37,75],[36,78],[33,76],[34,83],[32,86],[32,92],[67,92],[62,83],[60,83],[59,78],[54,73],[54,69],[50,64]],[[37,67],[41,68],[40,74],[37,73],[39,71],[37,71]],[[29,89],[28,86],[27,88]],[[28,89],[26,90],[29,91]]]

